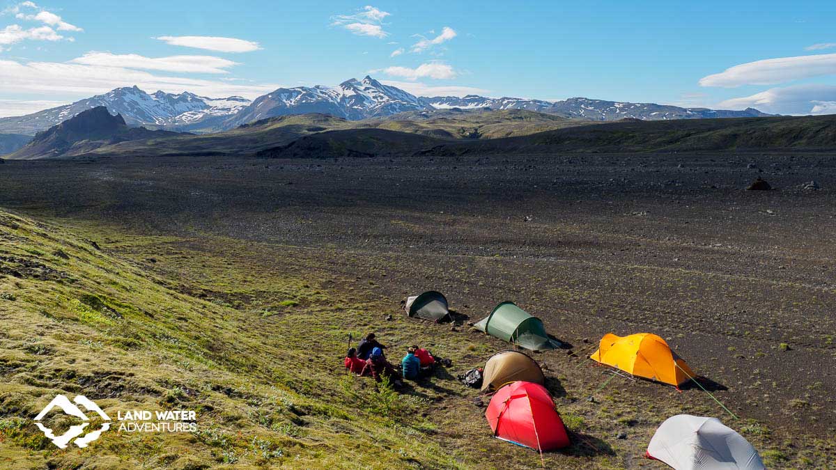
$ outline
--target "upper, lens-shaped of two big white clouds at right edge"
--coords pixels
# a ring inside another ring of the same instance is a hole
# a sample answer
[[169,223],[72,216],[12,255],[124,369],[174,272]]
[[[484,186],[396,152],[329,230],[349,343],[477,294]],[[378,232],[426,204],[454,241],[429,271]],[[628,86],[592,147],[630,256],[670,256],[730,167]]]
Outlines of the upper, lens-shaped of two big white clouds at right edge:
[[720,74],[703,77],[700,84],[734,88],[742,84],[779,84],[830,74],[836,74],[836,54],[802,55],[735,65]]

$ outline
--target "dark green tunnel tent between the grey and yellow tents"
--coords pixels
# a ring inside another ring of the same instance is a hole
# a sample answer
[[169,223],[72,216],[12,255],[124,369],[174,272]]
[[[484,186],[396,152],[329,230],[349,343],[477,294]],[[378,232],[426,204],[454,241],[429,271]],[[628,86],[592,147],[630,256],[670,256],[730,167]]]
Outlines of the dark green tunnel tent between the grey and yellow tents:
[[553,350],[560,347],[559,341],[548,337],[542,320],[528,314],[513,302],[498,304],[491,314],[473,327],[527,350]]

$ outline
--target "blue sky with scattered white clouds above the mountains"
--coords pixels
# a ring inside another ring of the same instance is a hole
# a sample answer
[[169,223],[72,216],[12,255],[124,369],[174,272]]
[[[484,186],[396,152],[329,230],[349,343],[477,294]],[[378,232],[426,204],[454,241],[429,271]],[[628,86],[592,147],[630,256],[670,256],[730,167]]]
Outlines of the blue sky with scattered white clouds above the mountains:
[[254,98],[371,74],[417,95],[836,113],[836,2],[9,2],[0,115],[138,84]]

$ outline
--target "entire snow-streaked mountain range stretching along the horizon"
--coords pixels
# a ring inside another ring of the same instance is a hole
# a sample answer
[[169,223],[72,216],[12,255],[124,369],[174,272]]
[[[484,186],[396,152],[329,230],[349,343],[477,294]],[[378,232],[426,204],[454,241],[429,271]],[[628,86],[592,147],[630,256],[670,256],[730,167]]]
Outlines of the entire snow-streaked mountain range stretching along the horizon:
[[478,95],[461,98],[419,97],[366,76],[362,80],[346,80],[336,87],[318,85],[280,88],[252,101],[240,96],[207,98],[189,92],[170,94],[156,91],[148,94],[136,86],[118,88],[70,105],[30,115],[0,118],[0,132],[33,135],[96,106],[105,106],[110,113],[121,115],[130,126],[198,133],[229,130],[255,120],[281,115],[308,113],[333,115],[345,120],[385,118],[413,111],[433,113],[449,109],[529,110],[591,121],[767,116],[752,108],[741,111],[709,110],[588,98],[544,101]]

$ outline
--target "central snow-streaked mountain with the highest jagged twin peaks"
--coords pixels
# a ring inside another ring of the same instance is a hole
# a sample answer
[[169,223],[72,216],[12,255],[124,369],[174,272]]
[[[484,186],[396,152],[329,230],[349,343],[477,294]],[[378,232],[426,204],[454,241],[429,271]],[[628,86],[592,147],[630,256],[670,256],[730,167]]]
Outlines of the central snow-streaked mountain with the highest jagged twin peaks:
[[420,98],[366,76],[336,87],[317,85],[280,88],[252,101],[225,125],[235,126],[279,115],[323,113],[349,120],[431,110]]

